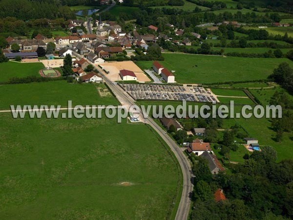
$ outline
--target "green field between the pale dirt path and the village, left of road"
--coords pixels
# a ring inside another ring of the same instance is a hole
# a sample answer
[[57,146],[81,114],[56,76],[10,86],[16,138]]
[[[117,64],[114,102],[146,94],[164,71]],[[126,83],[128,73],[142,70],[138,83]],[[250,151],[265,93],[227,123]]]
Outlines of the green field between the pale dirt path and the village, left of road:
[[118,105],[111,94],[100,97],[97,88],[103,85],[70,84],[66,81],[50,81],[0,86],[0,110],[10,109],[10,105]]

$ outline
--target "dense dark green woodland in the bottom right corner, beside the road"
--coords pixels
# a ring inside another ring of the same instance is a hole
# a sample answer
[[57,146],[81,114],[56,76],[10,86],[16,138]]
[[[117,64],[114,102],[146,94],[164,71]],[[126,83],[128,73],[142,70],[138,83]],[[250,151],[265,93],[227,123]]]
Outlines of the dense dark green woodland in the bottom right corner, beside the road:
[[[194,191],[190,220],[287,219],[293,217],[293,161],[276,163],[269,146],[245,156],[243,164],[228,165],[231,172],[211,175],[208,162],[191,155]],[[214,201],[223,189],[226,200]]]

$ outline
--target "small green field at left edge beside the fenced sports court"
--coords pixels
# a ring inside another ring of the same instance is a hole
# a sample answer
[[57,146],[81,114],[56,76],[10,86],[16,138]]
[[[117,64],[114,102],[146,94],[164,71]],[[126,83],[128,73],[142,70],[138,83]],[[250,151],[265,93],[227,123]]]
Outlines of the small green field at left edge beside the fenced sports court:
[[0,82],[7,82],[8,79],[13,77],[26,77],[26,76],[40,76],[39,70],[43,69],[42,63],[16,63],[7,62],[0,64]]

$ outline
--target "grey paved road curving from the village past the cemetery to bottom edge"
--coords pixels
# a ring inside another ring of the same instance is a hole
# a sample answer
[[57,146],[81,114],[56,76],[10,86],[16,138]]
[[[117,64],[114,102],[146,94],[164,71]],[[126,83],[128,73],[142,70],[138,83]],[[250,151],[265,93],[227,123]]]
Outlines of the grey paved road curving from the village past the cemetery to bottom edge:
[[[104,75],[104,81],[107,83],[109,88],[111,88],[111,90],[114,92],[117,99],[121,102],[122,105],[126,105],[128,107],[131,105],[135,105],[134,100],[122,88],[117,86],[117,84],[111,82],[105,76],[101,68],[97,67],[97,70],[100,72],[100,74]],[[142,115],[140,117],[142,118]],[[183,154],[178,145],[152,118],[146,118],[145,123],[149,124],[165,140],[180,164],[183,174],[183,191],[175,220],[187,220],[191,205],[191,194],[193,190],[192,170],[188,158]]]

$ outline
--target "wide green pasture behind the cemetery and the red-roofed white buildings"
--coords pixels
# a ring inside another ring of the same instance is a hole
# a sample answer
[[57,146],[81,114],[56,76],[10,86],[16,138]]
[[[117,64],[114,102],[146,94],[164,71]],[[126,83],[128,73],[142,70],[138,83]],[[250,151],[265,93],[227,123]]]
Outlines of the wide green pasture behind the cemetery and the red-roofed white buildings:
[[[293,66],[288,59],[242,58],[204,56],[190,54],[163,54],[165,61],[160,63],[170,71],[175,70],[178,83],[216,83],[267,79],[272,71],[282,62]],[[142,69],[152,67],[151,61],[140,61]]]

